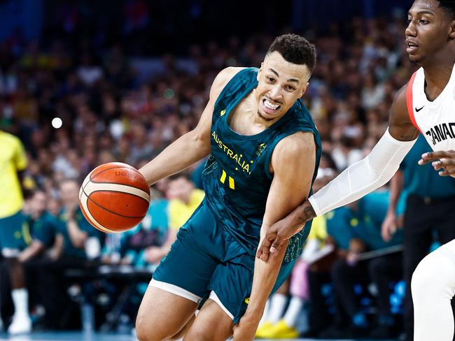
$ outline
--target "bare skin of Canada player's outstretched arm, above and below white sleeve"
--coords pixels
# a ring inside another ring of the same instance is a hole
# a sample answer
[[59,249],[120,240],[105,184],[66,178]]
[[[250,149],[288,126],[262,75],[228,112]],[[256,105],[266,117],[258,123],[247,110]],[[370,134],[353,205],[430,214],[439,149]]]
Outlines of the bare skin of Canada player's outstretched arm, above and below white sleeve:
[[[388,117],[388,131],[393,138],[400,141],[415,140],[417,136],[419,136],[419,131],[412,124],[407,112],[406,89],[407,85],[398,91],[398,94],[393,100]],[[297,206],[293,212],[290,212],[287,217],[268,228],[256,256],[263,261],[267,261],[270,254],[274,254],[275,256],[279,254],[283,242],[299,232],[304,224],[314,217],[316,217],[314,208],[308,200],[304,201],[304,203]]]

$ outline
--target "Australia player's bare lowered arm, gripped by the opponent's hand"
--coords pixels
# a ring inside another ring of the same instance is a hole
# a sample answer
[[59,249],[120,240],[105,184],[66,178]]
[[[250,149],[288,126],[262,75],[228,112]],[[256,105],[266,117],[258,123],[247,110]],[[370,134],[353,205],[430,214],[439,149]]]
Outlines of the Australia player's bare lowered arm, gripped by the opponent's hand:
[[[316,160],[312,133],[295,133],[283,138],[272,154],[274,178],[267,197],[261,227],[261,240],[267,228],[287,215],[295,205],[307,198]],[[265,302],[276,282],[284,253],[269,262],[255,259],[253,286],[244,317],[234,331],[234,340],[252,340]]]

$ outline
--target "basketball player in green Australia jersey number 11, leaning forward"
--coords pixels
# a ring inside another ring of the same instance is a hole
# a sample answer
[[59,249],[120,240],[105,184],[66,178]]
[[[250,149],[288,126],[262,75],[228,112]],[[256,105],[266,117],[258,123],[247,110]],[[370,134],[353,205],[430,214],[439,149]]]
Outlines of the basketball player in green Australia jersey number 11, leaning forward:
[[281,257],[255,260],[268,226],[309,196],[316,177],[321,142],[300,100],[315,59],[314,45],[288,34],[260,69],[221,71],[197,127],[141,168],[153,184],[209,155],[206,197],[153,273],[139,340],[253,340],[309,233],[295,235]]

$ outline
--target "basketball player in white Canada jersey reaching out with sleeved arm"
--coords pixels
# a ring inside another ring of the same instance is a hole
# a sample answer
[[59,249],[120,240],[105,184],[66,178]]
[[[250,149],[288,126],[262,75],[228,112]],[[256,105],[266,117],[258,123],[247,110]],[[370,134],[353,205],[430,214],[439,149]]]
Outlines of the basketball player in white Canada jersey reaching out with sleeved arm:
[[[455,177],[455,1],[415,0],[408,22],[406,51],[409,59],[421,68],[396,94],[386,133],[365,159],[346,168],[288,217],[269,228],[258,249],[261,259],[267,260],[269,253],[279,254],[284,240],[300,231],[304,222],[386,184],[419,133],[433,148],[433,152],[422,155],[419,164],[432,162],[440,175]],[[419,263],[411,289],[414,341],[451,341],[455,240]]]

